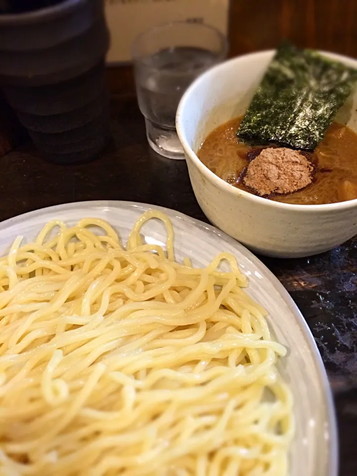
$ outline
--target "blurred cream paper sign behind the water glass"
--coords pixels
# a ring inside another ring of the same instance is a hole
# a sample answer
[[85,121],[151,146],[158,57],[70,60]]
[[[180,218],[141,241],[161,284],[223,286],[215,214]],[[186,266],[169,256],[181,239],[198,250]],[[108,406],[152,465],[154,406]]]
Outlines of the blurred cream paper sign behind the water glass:
[[229,0],[106,0],[111,33],[108,63],[131,60],[137,35],[169,21],[204,22],[227,33]]

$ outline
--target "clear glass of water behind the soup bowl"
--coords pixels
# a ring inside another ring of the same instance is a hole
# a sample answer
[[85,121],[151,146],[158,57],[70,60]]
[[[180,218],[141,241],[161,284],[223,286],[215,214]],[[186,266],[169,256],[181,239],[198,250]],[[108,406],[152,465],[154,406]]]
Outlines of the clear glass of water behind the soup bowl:
[[183,159],[176,111],[190,83],[225,59],[226,37],[202,23],[173,22],[140,35],[133,45],[138,103],[150,146],[171,159]]

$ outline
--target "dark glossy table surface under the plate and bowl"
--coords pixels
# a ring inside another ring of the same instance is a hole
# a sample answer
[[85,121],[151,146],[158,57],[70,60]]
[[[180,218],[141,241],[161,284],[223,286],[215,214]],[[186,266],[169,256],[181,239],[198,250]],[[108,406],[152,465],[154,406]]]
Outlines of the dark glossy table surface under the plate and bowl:
[[[184,161],[147,144],[134,96],[112,101],[113,141],[90,163],[45,162],[32,144],[0,159],[0,221],[60,203],[128,200],[161,205],[207,222]],[[357,476],[357,237],[318,256],[260,257],[294,298],[315,337],[335,394],[340,476]]]

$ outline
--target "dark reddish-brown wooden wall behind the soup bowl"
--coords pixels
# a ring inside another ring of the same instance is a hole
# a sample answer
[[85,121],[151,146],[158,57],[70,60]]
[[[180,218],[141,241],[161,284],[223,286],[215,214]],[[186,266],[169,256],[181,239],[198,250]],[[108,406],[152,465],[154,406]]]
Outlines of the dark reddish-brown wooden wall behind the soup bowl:
[[231,54],[297,46],[357,56],[357,0],[232,0]]

